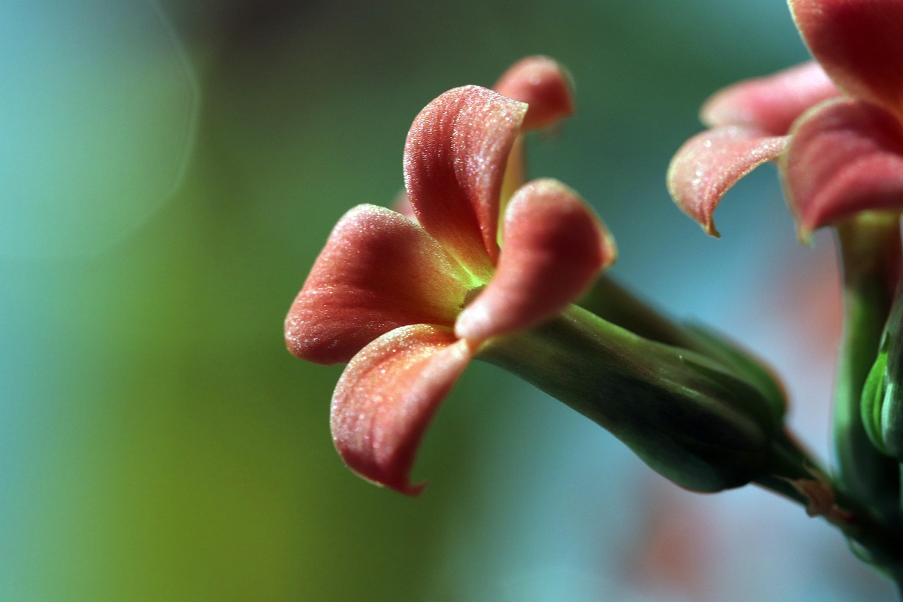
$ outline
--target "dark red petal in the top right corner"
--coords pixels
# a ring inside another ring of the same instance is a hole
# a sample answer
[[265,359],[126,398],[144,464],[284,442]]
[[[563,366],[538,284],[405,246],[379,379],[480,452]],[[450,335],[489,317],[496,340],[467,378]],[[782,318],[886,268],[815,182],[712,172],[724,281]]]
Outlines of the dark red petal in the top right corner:
[[903,2],[790,0],[790,10],[840,88],[903,119]]

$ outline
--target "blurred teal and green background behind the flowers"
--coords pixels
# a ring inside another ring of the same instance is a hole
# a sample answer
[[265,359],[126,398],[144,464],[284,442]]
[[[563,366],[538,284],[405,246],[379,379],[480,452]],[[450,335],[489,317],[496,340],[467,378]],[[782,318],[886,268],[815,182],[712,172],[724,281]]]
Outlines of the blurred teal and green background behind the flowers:
[[284,314],[340,215],[401,189],[414,115],[533,53],[578,106],[533,174],[596,207],[617,277],[774,363],[827,456],[830,238],[796,245],[770,168],[722,240],[664,184],[709,93],[805,60],[782,0],[3,0],[0,599],[892,599],[798,507],[684,493],[479,363],[421,498],[342,466],[340,367]]

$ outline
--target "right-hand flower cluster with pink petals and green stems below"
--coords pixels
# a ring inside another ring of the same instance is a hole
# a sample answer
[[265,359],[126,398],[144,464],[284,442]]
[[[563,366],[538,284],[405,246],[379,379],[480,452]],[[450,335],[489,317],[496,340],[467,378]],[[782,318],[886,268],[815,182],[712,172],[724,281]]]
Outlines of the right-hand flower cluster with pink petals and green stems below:
[[[815,61],[722,89],[702,110],[712,127],[678,150],[667,174],[677,205],[718,235],[712,214],[742,176],[772,160],[799,238],[833,226],[841,256],[843,338],[834,387],[837,491],[877,518],[887,541],[862,558],[899,578],[903,462],[903,3],[788,0]],[[871,367],[871,368],[870,368]],[[805,486],[805,492],[815,483]],[[810,508],[817,507],[810,498]],[[822,497],[818,495],[816,497]],[[831,500],[833,494],[825,499]],[[880,550],[880,551],[877,551]]]

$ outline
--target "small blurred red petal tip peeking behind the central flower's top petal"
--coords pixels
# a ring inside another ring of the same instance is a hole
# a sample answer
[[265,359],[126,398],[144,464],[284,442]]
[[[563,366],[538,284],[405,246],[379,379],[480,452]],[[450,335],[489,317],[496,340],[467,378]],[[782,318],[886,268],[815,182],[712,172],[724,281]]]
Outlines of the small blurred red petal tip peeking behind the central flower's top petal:
[[528,56],[514,63],[493,86],[509,99],[526,102],[529,108],[524,129],[553,124],[573,115],[571,77],[546,56]]

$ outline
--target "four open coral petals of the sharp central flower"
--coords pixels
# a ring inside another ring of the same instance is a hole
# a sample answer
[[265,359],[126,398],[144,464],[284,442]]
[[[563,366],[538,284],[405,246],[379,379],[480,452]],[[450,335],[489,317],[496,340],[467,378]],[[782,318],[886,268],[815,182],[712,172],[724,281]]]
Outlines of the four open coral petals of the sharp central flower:
[[349,362],[332,437],[377,484],[418,494],[415,451],[481,344],[558,315],[615,258],[604,226],[562,183],[504,198],[525,116],[526,104],[476,86],[427,105],[405,145],[416,221],[373,205],[346,213],[286,318],[292,353]]

